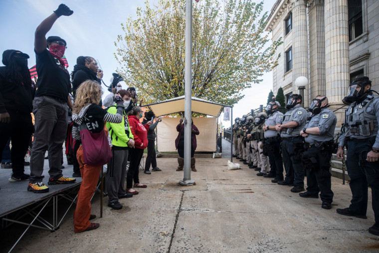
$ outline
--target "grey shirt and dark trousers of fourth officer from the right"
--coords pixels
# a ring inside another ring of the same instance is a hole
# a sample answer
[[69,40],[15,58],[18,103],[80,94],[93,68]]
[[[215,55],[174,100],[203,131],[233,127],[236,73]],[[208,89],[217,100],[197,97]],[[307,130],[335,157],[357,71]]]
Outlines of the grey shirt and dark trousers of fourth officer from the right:
[[[275,111],[270,114],[265,120],[264,124],[267,126],[276,126],[283,120],[283,113]],[[283,180],[283,159],[280,154],[280,142],[281,138],[276,130],[266,130],[264,132],[265,146],[268,153],[268,159],[270,162],[269,176],[275,177],[274,181]]]

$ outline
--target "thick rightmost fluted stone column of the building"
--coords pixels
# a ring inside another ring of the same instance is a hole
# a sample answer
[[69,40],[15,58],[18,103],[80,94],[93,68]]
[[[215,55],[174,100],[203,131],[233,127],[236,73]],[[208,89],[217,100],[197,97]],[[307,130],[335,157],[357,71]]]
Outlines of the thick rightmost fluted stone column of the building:
[[350,83],[348,0],[325,0],[325,77],[329,104],[341,107]]

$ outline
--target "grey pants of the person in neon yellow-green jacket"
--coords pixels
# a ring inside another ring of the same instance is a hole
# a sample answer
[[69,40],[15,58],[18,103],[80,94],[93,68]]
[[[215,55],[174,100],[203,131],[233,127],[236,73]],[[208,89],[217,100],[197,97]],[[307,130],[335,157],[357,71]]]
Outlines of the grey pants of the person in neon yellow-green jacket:
[[117,202],[119,196],[126,194],[124,189],[128,150],[112,150],[112,159],[107,165],[108,203]]

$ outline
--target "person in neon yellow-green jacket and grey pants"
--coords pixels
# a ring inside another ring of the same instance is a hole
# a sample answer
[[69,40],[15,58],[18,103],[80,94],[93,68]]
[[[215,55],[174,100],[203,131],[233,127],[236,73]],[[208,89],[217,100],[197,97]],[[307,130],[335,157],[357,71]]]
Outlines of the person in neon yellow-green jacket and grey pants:
[[[107,122],[107,128],[112,140],[112,159],[107,165],[107,193],[108,207],[118,210],[122,208],[119,199],[131,198],[132,193],[127,193],[124,189],[126,165],[128,162],[128,152],[134,148],[133,134],[130,130],[128,116],[125,113],[129,106],[130,93],[126,90],[119,90],[117,93],[123,98],[124,117],[120,123]],[[116,114],[117,104],[107,110],[111,114]]]

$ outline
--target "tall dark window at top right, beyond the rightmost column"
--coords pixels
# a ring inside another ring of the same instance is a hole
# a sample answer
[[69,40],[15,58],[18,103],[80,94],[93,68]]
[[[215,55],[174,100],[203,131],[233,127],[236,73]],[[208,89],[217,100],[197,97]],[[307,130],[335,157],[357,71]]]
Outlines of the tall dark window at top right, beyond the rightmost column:
[[349,40],[363,33],[362,0],[349,0]]

